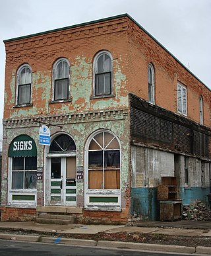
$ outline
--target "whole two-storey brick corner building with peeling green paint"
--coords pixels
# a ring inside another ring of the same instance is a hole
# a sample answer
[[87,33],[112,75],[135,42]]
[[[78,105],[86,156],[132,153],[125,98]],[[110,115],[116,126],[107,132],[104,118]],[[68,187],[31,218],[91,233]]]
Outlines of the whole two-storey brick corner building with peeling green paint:
[[2,221],[156,220],[166,176],[208,200],[211,91],[129,15],[4,42]]

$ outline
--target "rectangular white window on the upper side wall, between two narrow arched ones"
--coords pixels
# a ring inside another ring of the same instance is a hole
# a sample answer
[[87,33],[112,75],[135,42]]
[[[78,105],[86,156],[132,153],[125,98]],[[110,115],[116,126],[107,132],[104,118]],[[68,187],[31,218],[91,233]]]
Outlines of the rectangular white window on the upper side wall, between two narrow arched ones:
[[177,83],[177,112],[187,116],[187,87]]

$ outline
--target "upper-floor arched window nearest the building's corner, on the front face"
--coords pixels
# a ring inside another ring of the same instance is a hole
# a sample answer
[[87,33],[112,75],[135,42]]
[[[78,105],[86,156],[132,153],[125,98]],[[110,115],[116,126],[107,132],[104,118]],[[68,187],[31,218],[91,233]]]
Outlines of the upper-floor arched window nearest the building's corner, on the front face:
[[103,51],[94,58],[94,96],[113,95],[113,59]]

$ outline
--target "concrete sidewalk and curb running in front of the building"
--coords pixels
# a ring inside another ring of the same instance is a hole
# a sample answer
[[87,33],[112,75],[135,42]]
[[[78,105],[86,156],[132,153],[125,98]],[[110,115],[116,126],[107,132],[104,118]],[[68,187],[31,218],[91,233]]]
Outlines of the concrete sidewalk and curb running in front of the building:
[[[182,227],[182,228],[181,228]],[[24,232],[26,234],[24,234]],[[65,243],[71,245],[98,246],[98,247],[126,247],[128,249],[171,251],[177,253],[200,253],[211,255],[211,247],[161,245],[149,243],[131,243],[122,241],[105,241],[93,239],[63,238],[62,235],[86,234],[92,235],[105,232],[116,234],[119,232],[129,234],[163,234],[185,235],[189,237],[211,237],[211,222],[134,222],[131,226],[121,225],[56,225],[38,224],[36,222],[0,222],[0,239],[13,239],[22,241],[39,241],[47,243]]]

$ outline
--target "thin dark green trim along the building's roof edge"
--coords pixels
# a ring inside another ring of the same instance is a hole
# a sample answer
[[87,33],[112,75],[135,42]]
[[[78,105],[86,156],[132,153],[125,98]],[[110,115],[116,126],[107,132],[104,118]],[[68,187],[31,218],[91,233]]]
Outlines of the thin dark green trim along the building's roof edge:
[[121,15],[115,15],[115,16],[107,17],[107,18],[104,18],[104,19],[98,19],[98,20],[95,20],[95,21],[88,21],[88,22],[83,22],[83,23],[71,25],[71,26],[65,26],[63,28],[56,28],[56,29],[53,29],[53,30],[46,30],[44,32],[39,32],[39,33],[36,33],[36,34],[29,34],[27,36],[20,36],[20,37],[16,37],[16,38],[11,38],[11,39],[7,39],[7,40],[3,40],[3,42],[4,43],[13,42],[15,40],[21,40],[21,39],[24,39],[24,38],[31,38],[33,36],[40,36],[42,34],[48,34],[48,33],[51,33],[51,32],[58,32],[58,31],[61,31],[61,30],[69,29],[69,28],[76,28],[78,26],[86,26],[88,24],[94,24],[94,23],[103,22],[103,21],[110,21],[110,20],[119,19],[119,18],[122,18],[122,17],[128,17],[129,19],[131,19],[131,21],[135,22],[135,24],[137,26],[139,26],[142,30],[144,30],[144,32],[146,32],[146,34],[148,34],[148,36],[150,36],[150,38],[152,38],[157,44],[159,44],[179,64],[181,64],[189,73],[191,73],[191,75],[193,75],[200,83],[202,83],[202,85],[204,85],[209,91],[211,91],[211,89],[207,85],[205,85],[205,83],[203,83],[198,77],[196,77],[196,75],[194,73],[192,73],[184,64],[182,64],[173,54],[171,54],[171,52],[169,52],[169,50],[167,50],[166,47],[164,47],[162,44],[160,44],[160,42],[158,42],[158,40],[156,40],[156,38],[154,38],[154,36],[152,36],[152,34],[150,34],[145,28],[143,28],[140,24],[138,24],[138,22],[136,22],[135,19],[133,19],[127,13],[123,13]]

